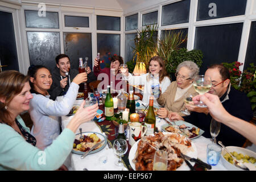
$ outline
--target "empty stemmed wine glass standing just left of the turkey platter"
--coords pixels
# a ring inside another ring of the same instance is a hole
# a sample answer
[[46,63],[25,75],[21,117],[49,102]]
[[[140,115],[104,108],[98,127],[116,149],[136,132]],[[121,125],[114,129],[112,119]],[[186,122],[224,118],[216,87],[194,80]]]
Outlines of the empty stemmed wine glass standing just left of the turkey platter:
[[119,156],[119,159],[115,162],[117,166],[123,166],[121,156],[127,152],[128,146],[125,139],[114,140],[113,149],[115,155]]

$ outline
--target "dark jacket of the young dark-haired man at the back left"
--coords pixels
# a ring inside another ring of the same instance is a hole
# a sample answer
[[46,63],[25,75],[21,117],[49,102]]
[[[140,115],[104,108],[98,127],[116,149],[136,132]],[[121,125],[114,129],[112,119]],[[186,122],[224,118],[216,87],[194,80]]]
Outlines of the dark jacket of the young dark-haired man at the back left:
[[[69,77],[70,77],[70,82],[73,81],[73,78],[76,77],[76,75],[79,74],[79,71],[77,69],[70,69],[69,71]],[[62,79],[65,77],[62,77]],[[65,93],[67,93],[68,88],[69,88],[69,78],[68,78],[68,84],[65,86],[65,88],[61,88],[60,86],[60,69],[55,68],[52,71],[52,85],[51,88],[48,90],[49,95],[51,96],[50,99],[55,100],[57,96],[64,96]],[[87,82],[92,82],[97,80],[96,76],[94,75],[93,72],[90,72],[89,75],[87,76],[88,81]]]

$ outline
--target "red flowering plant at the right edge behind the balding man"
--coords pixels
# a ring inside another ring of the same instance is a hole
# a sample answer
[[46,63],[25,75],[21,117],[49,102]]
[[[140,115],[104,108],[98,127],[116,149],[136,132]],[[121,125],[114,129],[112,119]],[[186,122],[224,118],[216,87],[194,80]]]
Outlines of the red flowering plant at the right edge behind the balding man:
[[256,66],[251,63],[243,72],[240,71],[241,65],[238,61],[233,63],[222,63],[229,69],[231,85],[241,92],[247,94],[251,102],[251,109],[256,110]]

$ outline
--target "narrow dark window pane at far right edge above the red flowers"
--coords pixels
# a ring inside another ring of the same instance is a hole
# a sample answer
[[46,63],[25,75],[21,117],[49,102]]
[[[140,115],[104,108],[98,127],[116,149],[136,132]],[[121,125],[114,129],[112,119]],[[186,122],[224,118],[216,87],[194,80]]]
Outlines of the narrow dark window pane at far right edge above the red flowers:
[[246,51],[245,65],[243,69],[249,67],[251,63],[256,65],[256,22],[251,22],[251,30],[249,35],[249,42]]

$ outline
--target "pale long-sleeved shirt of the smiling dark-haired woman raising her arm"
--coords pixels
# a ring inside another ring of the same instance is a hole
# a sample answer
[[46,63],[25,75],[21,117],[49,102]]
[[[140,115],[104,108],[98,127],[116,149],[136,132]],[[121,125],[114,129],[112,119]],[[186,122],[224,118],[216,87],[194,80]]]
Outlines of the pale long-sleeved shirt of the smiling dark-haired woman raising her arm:
[[44,150],[60,134],[58,116],[67,115],[76,101],[79,85],[69,86],[63,100],[53,101],[49,96],[33,93],[30,101],[30,117],[33,121],[31,134],[36,138],[36,147]]

